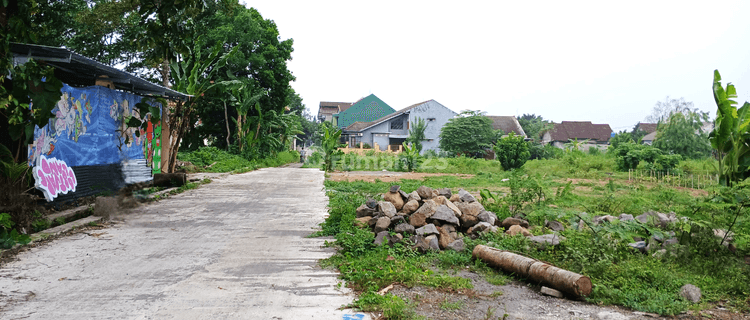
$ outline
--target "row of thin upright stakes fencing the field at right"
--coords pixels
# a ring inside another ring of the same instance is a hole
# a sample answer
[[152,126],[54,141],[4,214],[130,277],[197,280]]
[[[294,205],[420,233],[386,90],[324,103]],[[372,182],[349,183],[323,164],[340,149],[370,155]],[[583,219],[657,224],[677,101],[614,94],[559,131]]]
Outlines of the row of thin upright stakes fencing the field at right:
[[628,170],[628,181],[664,183],[671,186],[703,189],[719,183],[719,175],[713,171],[685,173],[682,171]]

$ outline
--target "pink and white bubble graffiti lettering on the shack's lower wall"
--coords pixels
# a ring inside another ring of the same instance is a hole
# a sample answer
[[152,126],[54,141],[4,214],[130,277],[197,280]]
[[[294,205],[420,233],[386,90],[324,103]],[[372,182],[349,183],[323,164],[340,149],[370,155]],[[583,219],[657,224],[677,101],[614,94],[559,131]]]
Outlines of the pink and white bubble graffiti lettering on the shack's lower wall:
[[52,201],[58,195],[76,192],[78,179],[73,169],[63,160],[39,156],[37,165],[32,170],[34,173],[34,186],[44,193],[47,201]]

